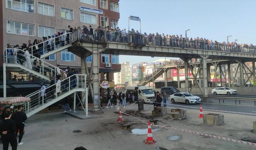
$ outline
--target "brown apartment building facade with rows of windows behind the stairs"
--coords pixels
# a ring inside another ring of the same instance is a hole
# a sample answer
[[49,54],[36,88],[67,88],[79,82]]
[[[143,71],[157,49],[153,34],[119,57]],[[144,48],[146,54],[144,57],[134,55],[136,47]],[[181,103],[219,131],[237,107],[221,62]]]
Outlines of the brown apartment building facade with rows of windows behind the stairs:
[[[42,40],[44,36],[51,36],[55,32],[68,30],[68,26],[101,26],[100,13],[95,13],[100,8],[102,0],[1,0],[0,1],[0,54],[4,53],[7,44],[19,46],[22,43],[28,44],[35,39]],[[102,9],[104,15],[114,20],[119,19],[118,0],[113,0],[118,7],[118,11],[112,11],[110,7],[112,1],[107,0],[107,9]],[[111,5],[112,6],[112,5]],[[116,8],[116,7],[115,7]],[[96,11],[91,11],[96,10]],[[111,19],[110,19],[111,22]],[[0,55],[0,70],[3,66],[3,55]],[[68,50],[63,50],[48,58],[46,62],[56,66],[59,64],[62,69],[66,67],[75,68],[80,72],[80,57]],[[86,58],[88,66],[92,62],[92,57]],[[121,65],[117,55],[100,55],[101,80],[114,80],[114,72],[119,72]],[[29,74],[22,72],[8,72],[7,80],[12,76],[26,76],[30,82],[37,80],[29,78]],[[2,76],[2,71],[0,76]],[[19,77],[18,77],[19,78]]]

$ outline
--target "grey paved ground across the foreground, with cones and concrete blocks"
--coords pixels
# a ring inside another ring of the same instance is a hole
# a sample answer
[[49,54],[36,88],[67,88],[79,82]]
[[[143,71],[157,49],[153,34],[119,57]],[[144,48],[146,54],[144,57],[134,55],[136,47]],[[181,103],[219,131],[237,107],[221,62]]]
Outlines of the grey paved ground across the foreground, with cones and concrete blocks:
[[[123,110],[123,107],[121,107]],[[127,110],[138,110],[138,105],[134,104]],[[28,118],[25,134],[23,136],[23,145],[18,146],[18,150],[74,150],[77,146],[84,146],[88,150],[156,150],[157,146],[168,150],[255,150],[256,147],[227,142],[206,136],[190,134],[178,130],[161,128],[153,132],[153,138],[156,144],[144,144],[143,140],[147,135],[134,135],[131,130],[122,130],[122,123],[118,123],[118,107],[104,108],[104,113],[89,114],[92,118],[78,119],[64,112],[54,112],[45,114],[35,114]],[[144,105],[142,115],[151,115],[152,105]],[[168,107],[170,112],[171,107]],[[209,113],[204,111],[204,114]],[[198,110],[187,110],[185,120],[167,120],[166,116],[157,117],[159,125],[171,126],[196,132],[213,134],[241,140],[245,137],[256,137],[252,133],[252,122],[255,116],[244,116],[238,114],[224,114],[225,124],[222,126],[210,126],[202,124],[202,118],[198,118]],[[132,123],[132,128],[144,128],[147,124],[133,118],[124,116],[124,123]],[[146,118],[137,118],[148,121]],[[152,127],[156,129],[158,127]],[[77,132],[73,132],[73,131]],[[80,130],[80,131],[78,131]],[[178,134],[182,136],[180,141],[166,140],[168,136]],[[2,149],[2,144],[0,145]],[[9,146],[10,149],[10,146]],[[176,149],[178,150],[178,149]]]

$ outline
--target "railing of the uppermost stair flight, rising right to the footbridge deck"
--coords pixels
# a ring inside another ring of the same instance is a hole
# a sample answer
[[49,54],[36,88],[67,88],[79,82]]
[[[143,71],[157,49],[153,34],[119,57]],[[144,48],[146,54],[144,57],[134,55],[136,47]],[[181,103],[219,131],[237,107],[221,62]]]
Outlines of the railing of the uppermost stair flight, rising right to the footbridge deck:
[[33,46],[30,46],[30,54],[33,56],[40,56],[40,55],[44,55],[50,51],[54,51],[57,48],[66,46],[68,44],[70,44],[70,39],[71,39],[71,32],[68,33],[64,33],[60,36],[56,36],[54,38],[51,38],[49,41],[49,39],[47,39],[46,41],[42,41],[38,44],[35,44]]

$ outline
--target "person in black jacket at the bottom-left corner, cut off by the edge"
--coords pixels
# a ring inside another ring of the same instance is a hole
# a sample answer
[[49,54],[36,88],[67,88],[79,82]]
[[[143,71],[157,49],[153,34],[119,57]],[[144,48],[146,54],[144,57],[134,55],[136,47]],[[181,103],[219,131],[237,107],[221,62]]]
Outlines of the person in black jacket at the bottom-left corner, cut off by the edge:
[[9,143],[12,146],[12,150],[17,150],[17,139],[15,136],[16,132],[16,126],[15,122],[10,119],[11,118],[11,112],[6,111],[4,113],[4,120],[2,120],[1,124],[1,136],[2,136],[2,143],[3,143],[3,150],[8,150]]

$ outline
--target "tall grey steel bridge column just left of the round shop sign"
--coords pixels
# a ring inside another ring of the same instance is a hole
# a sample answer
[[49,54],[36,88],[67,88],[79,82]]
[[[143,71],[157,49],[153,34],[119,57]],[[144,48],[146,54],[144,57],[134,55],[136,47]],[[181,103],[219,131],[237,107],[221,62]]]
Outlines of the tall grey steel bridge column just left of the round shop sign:
[[99,50],[92,48],[93,111],[100,111]]

